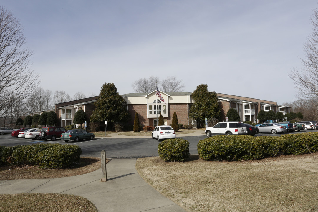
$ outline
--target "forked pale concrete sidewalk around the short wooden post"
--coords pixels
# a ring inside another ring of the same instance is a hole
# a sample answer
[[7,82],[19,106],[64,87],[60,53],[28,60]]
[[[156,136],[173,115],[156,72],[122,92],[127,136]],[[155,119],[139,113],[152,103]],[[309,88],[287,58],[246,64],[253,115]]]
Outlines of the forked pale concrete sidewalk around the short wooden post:
[[0,194],[79,195],[93,202],[99,212],[185,211],[146,183],[135,163],[136,159],[112,159],[107,163],[107,182],[101,182],[101,169],[72,177],[0,181]]

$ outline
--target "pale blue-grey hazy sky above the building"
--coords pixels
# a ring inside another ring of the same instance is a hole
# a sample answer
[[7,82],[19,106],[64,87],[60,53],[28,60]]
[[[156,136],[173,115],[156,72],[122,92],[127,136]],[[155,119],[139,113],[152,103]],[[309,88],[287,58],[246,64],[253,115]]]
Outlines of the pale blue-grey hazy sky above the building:
[[293,102],[312,0],[1,0],[20,20],[40,85],[70,96],[119,94],[150,76],[176,76],[193,92]]

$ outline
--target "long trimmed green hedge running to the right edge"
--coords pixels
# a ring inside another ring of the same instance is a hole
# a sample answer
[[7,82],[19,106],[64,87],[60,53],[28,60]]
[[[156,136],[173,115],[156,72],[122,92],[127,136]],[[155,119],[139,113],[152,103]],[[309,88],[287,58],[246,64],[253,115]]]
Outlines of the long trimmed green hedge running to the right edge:
[[[308,148],[309,149],[308,149]],[[279,154],[306,154],[318,151],[318,133],[282,136],[217,135],[200,140],[200,158],[207,161],[257,160]]]

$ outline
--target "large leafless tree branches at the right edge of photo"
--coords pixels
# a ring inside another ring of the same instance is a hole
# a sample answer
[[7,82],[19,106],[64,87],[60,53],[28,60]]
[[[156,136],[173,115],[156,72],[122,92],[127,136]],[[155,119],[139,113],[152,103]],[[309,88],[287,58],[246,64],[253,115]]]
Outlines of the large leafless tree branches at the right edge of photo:
[[303,67],[294,68],[289,77],[294,80],[300,99],[318,99],[318,11],[311,17],[313,31],[304,44],[306,58],[301,58]]

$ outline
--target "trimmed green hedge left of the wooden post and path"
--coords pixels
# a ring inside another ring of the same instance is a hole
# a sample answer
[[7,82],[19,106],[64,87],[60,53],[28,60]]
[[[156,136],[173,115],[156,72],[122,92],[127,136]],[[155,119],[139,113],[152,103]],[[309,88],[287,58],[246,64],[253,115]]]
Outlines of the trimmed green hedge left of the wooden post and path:
[[79,160],[82,150],[70,144],[32,144],[0,147],[0,165],[33,165],[40,168],[66,168]]

